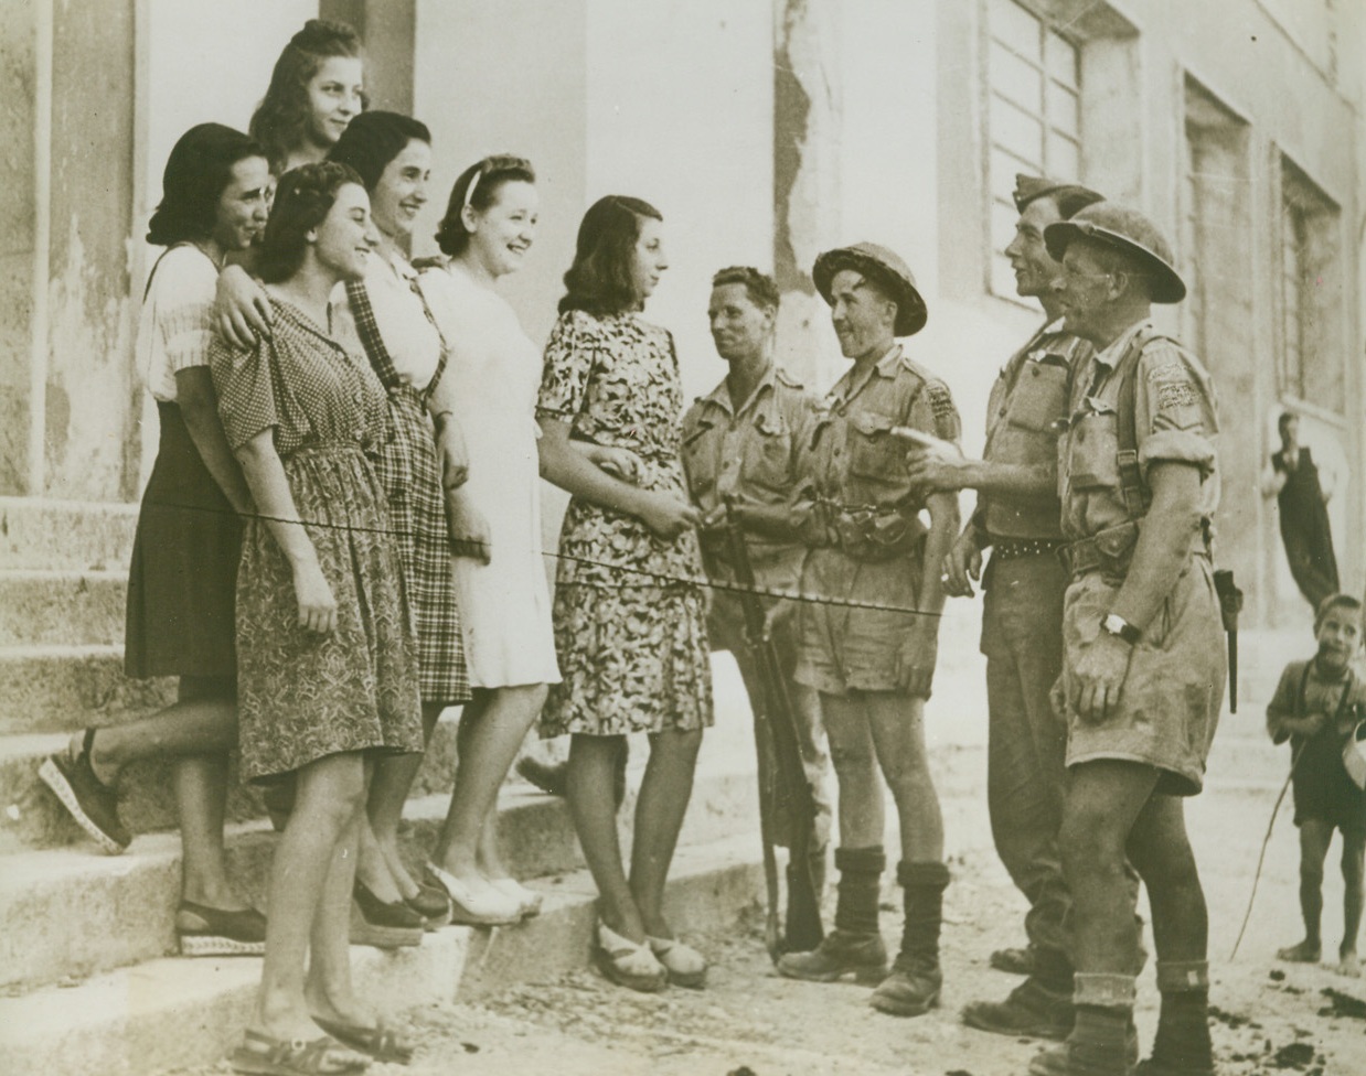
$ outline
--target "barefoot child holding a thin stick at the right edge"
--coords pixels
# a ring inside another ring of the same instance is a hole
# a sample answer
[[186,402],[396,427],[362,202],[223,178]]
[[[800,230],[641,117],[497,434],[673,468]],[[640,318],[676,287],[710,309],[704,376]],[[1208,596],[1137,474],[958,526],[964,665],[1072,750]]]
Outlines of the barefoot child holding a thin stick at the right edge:
[[1281,960],[1314,964],[1322,954],[1324,860],[1333,830],[1343,833],[1343,944],[1337,971],[1356,978],[1356,934],[1362,922],[1362,873],[1366,852],[1366,774],[1347,754],[1366,720],[1366,683],[1352,670],[1362,647],[1362,604],[1348,594],[1322,601],[1314,617],[1318,653],[1292,661],[1266,707],[1274,743],[1291,741],[1295,825],[1299,827],[1299,905],[1305,939],[1276,953]]

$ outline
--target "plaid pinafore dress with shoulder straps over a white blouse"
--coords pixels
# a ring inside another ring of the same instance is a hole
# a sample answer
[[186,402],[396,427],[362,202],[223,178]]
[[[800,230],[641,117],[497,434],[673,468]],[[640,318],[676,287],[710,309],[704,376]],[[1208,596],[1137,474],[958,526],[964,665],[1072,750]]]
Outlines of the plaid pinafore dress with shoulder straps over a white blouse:
[[[382,265],[377,269],[389,272]],[[348,283],[346,295],[370,367],[389,393],[393,440],[381,449],[376,471],[389,498],[389,519],[399,531],[403,582],[417,628],[422,700],[455,706],[470,698],[470,676],[460,635],[441,470],[432,419],[426,411],[432,386],[440,381],[445,369],[447,352],[443,347],[441,359],[428,386],[415,388],[403,380],[393,365],[380,335],[366,284]],[[419,295],[414,295],[414,307],[418,317],[425,315]]]

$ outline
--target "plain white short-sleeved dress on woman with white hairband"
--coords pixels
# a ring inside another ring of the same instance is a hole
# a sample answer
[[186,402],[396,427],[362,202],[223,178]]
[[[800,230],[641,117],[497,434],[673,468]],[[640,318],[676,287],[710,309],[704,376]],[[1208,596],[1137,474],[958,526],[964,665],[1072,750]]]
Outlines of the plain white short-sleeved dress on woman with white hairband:
[[429,269],[419,285],[451,352],[434,397],[464,433],[466,489],[490,531],[489,564],[455,558],[470,685],[559,683],[541,557],[541,352],[507,300],[463,269]]

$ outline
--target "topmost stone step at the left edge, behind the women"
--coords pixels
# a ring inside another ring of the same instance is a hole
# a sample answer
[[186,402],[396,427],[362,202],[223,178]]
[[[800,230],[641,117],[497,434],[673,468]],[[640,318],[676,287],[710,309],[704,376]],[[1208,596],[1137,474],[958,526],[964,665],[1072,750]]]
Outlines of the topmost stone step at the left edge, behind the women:
[[0,569],[126,568],[138,505],[0,497]]

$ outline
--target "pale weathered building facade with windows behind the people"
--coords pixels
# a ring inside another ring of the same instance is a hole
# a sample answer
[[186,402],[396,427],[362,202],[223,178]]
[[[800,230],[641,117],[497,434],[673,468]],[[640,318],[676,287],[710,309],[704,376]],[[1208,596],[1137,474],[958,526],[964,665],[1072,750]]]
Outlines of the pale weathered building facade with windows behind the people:
[[535,162],[541,233],[510,283],[533,339],[593,199],[664,212],[671,272],[650,317],[694,392],[724,369],[705,309],[732,264],[775,272],[785,362],[831,384],[839,351],[807,273],[820,250],[874,239],[912,266],[930,321],[911,351],[979,445],[992,377],[1038,321],[1000,254],[1015,172],[1142,208],[1193,283],[1167,328],[1220,392],[1218,556],[1249,620],[1302,617],[1258,493],[1284,410],[1339,475],[1343,582],[1362,590],[1366,5],[1348,0],[0,5],[0,494],[138,497],[156,431],[131,336],[163,164],[194,123],[245,128],[279,49],[318,14],[362,31],[376,107],[433,131],[419,235],[464,165]]

